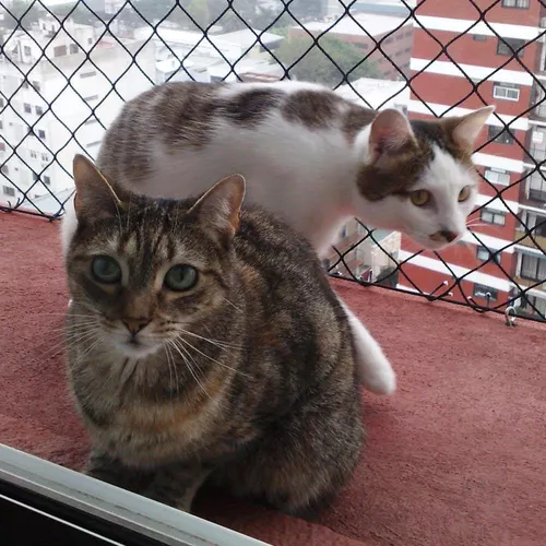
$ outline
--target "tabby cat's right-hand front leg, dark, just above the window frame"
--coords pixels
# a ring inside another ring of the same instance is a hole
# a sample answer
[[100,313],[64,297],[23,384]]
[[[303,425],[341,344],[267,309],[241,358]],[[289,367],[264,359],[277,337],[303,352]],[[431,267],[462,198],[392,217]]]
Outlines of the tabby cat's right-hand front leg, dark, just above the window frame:
[[193,497],[211,471],[212,468],[204,468],[199,464],[176,463],[162,466],[155,471],[153,480],[142,495],[189,512]]

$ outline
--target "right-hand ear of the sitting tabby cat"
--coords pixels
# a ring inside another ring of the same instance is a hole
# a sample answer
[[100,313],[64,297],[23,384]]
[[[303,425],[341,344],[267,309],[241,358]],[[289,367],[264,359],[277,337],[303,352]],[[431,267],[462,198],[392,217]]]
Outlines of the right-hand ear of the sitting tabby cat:
[[239,228],[239,214],[245,199],[245,178],[232,175],[215,183],[190,209],[205,228],[230,239]]

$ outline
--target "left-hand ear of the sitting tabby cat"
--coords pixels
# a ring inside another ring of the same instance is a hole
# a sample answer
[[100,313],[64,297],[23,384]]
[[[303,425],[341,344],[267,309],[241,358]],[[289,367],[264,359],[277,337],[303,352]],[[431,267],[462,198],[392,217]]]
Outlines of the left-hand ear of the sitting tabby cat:
[[105,176],[87,159],[76,154],[72,164],[78,219],[100,219],[116,216],[124,207],[124,192],[115,189]]

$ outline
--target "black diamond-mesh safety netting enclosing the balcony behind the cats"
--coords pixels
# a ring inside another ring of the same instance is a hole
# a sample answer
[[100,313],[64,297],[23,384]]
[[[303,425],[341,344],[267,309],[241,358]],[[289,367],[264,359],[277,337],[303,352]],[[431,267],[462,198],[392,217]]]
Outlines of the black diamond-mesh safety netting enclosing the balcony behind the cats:
[[[451,8],[447,9],[448,4]],[[271,82],[295,78],[323,83],[363,106],[399,107],[411,117],[450,115],[461,111],[458,108],[467,111],[482,104],[497,104],[494,122],[502,126],[511,144],[487,147],[489,143],[483,142],[476,152],[482,152],[482,175],[484,168],[499,166],[510,175],[508,186],[484,178],[480,200],[480,207],[489,211],[485,217],[500,206],[506,222],[490,228],[476,224],[467,242],[482,245],[480,234],[492,229],[494,235],[486,236],[506,242],[499,252],[515,244],[534,245],[542,251],[536,238],[525,233],[514,235],[521,218],[511,202],[519,199],[514,187],[527,188],[520,199],[533,206],[546,202],[546,191],[529,189],[530,175],[510,167],[513,162],[531,162],[536,170],[546,161],[539,143],[527,144],[525,129],[533,112],[546,117],[546,104],[530,100],[523,93],[526,85],[544,91],[538,54],[545,31],[541,29],[538,10],[533,2],[529,10],[510,10],[498,0],[400,0],[388,5],[378,2],[372,8],[363,2],[322,0],[119,0],[108,2],[106,13],[96,2],[50,5],[37,0],[0,0],[0,136],[5,139],[0,138],[1,210],[59,218],[72,193],[73,154],[94,157],[114,110],[154,84],[164,80]],[[508,15],[511,25],[506,24]],[[446,26],[449,17],[472,21],[464,28]],[[518,24],[526,29],[521,37],[512,36]],[[478,48],[480,56],[489,56],[487,61],[476,55]],[[28,59],[37,60],[23,62]],[[441,64],[441,70],[436,64]],[[468,67],[474,68],[468,71]],[[435,78],[451,74],[453,82],[463,84],[463,91],[439,107],[434,86],[424,85],[427,72]],[[520,93],[513,94],[518,100],[494,98],[491,82],[501,85],[502,78],[512,73],[525,82],[505,84],[520,87]],[[85,93],[88,88],[93,93]],[[67,95],[70,111],[68,106],[61,108]],[[495,158],[499,146],[506,150],[506,157]],[[483,165],[487,157],[494,157],[488,159],[492,163]],[[513,170],[506,170],[506,164]],[[479,218],[479,212],[474,217]],[[385,258],[400,258],[368,263],[375,253],[355,251],[368,241],[373,241]],[[402,242],[402,249],[400,241],[397,245],[393,248],[380,237],[376,240],[373,232],[363,226],[349,244],[334,250],[331,271],[343,271],[346,278],[368,285],[369,278],[357,274],[365,265],[366,271],[383,273],[390,268],[389,275],[397,280],[394,288],[429,300],[468,305],[479,312],[503,312],[514,302],[510,289],[515,271],[503,265],[508,260],[498,260],[499,264],[476,260],[463,268],[456,265],[453,253],[446,252],[435,254],[437,265],[423,270],[426,275],[417,275],[415,264],[428,263],[428,254],[406,250],[415,248],[410,244]],[[358,257],[365,257],[366,263],[358,263]],[[495,301],[473,298],[479,293],[476,287],[484,285],[484,275],[497,286],[490,287],[498,293]],[[534,317],[544,319],[538,310]]]

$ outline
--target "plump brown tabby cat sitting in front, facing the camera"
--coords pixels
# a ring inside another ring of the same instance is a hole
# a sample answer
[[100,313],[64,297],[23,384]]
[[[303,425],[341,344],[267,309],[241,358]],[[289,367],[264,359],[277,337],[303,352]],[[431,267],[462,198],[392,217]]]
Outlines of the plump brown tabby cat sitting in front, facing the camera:
[[241,209],[238,175],[185,201],[132,194],[83,156],[74,179],[86,472],[182,510],[207,479],[297,515],[328,502],[364,430],[347,317],[312,247]]

